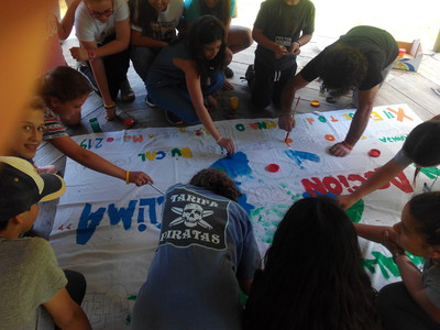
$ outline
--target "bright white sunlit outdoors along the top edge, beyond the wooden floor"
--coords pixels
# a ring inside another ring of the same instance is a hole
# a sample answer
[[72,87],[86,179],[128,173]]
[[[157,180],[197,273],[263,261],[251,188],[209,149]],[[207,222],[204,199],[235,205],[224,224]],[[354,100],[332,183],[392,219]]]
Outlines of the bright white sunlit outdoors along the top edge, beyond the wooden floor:
[[[233,24],[252,28],[263,0],[237,0]],[[356,25],[385,29],[398,41],[420,38],[425,52],[432,50],[440,31],[439,0],[315,0],[315,35],[337,38]],[[59,0],[61,12],[66,11]]]

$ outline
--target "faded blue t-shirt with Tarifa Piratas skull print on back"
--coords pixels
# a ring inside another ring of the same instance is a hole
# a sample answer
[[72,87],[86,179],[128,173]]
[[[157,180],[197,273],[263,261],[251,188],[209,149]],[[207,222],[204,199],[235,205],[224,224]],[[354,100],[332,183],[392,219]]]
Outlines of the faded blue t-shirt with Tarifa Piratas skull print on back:
[[251,221],[237,202],[191,185],[165,196],[158,248],[132,329],[240,330],[239,280],[260,267]]

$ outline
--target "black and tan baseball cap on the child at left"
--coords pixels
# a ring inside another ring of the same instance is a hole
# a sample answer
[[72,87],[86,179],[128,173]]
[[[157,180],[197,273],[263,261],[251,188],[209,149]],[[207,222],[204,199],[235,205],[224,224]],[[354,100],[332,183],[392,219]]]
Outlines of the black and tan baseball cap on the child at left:
[[66,190],[56,174],[37,174],[26,160],[0,156],[0,221],[28,211],[32,205],[53,200]]

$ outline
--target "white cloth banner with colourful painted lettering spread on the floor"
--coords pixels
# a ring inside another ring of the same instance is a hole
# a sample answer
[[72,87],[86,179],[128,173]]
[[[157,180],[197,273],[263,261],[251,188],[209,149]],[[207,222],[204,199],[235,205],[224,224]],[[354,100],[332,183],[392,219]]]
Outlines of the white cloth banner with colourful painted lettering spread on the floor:
[[[243,193],[240,204],[251,217],[263,255],[294,201],[304,196],[353,191],[397,153],[407,134],[421,122],[406,105],[376,107],[353,152],[343,158],[329,155],[327,148],[344,139],[353,112],[298,114],[289,145],[276,119],[216,122],[223,136],[234,140],[238,152],[233,156],[227,156],[201,125],[88,134],[74,140],[122,168],[147,173],[163,191],[187,183],[202,168],[223,169]],[[372,148],[381,155],[370,156]],[[267,170],[271,164],[279,169]],[[356,204],[349,215],[353,221],[393,224],[415,190],[435,183],[436,173],[437,168],[425,169],[413,187],[414,167],[409,166],[382,190]],[[72,160],[67,161],[65,179],[67,191],[51,234],[59,264],[86,276],[82,308],[94,329],[129,329],[135,296],[157,245],[164,197],[151,186],[125,185]],[[365,271],[376,288],[399,279],[384,248],[364,240],[360,243]]]

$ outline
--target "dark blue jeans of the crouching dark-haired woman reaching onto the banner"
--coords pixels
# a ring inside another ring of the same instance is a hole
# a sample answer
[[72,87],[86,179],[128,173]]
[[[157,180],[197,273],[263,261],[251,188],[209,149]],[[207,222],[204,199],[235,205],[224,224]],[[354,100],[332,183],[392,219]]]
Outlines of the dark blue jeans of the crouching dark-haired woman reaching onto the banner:
[[[224,82],[224,75],[220,70],[211,70],[209,73],[210,85],[201,86],[204,97],[219,90]],[[191,98],[189,97],[188,89],[185,81],[179,85],[168,86],[150,86],[148,97],[153,103],[161,109],[173,112],[183,121],[191,124],[200,123],[199,118],[194,109]]]

